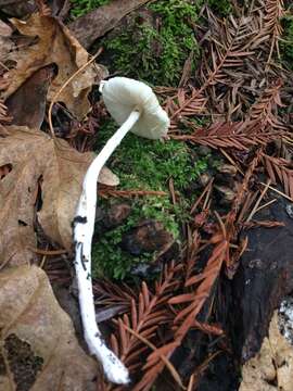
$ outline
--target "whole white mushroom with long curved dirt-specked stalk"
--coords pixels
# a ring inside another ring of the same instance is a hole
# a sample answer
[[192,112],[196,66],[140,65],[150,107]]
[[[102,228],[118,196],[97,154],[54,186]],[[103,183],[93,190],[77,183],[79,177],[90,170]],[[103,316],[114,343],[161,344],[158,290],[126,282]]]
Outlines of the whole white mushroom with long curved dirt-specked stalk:
[[122,126],[91,163],[84,179],[82,192],[74,219],[75,269],[88,348],[101,362],[110,381],[127,383],[128,370],[106,348],[95,323],[91,282],[91,241],[97,206],[97,180],[105,162],[129,130],[149,139],[160,139],[167,134],[169,118],[152,89],[141,81],[115,77],[109,81],[102,81],[100,90],[110,114]]

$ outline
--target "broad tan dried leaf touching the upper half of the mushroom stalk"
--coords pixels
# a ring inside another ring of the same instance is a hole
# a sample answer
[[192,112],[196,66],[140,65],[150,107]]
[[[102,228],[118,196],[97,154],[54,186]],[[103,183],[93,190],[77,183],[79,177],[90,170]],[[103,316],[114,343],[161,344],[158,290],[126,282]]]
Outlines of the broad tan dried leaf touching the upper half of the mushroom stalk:
[[37,213],[39,223],[48,237],[69,250],[71,223],[93,154],[79,153],[66,141],[27,127],[7,126],[0,135],[0,166],[10,164],[12,168],[0,181],[2,262],[24,263],[31,257],[29,251],[25,260],[23,251],[35,242],[39,184],[42,202]]

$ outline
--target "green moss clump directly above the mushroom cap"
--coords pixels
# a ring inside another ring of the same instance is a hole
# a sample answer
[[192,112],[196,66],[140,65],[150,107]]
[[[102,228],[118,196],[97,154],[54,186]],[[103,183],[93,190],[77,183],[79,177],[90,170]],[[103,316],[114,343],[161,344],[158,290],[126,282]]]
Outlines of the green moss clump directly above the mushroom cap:
[[106,65],[111,71],[152,85],[178,85],[188,56],[191,54],[194,66],[199,54],[194,25],[200,3],[192,0],[151,3],[146,16],[138,13],[120,34],[104,39],[103,45],[111,52]]

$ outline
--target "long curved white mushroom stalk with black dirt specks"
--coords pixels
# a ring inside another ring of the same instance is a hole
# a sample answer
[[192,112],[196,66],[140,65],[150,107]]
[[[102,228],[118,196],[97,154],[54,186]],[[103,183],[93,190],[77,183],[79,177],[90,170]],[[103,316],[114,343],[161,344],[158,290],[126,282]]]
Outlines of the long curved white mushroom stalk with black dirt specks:
[[105,345],[95,323],[91,281],[91,241],[94,229],[97,182],[100,171],[139,117],[140,112],[132,111],[127,121],[111,137],[89,166],[84,179],[82,192],[74,219],[75,270],[85,339],[89,351],[102,364],[107,379],[118,384],[127,383],[129,375],[124,364]]

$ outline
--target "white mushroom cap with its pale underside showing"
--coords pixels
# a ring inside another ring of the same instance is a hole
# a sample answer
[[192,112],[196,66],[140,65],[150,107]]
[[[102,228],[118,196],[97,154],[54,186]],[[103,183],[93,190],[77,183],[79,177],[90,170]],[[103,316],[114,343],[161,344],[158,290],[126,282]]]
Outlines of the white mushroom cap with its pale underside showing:
[[113,77],[101,81],[100,91],[107,111],[119,125],[125,123],[132,111],[138,110],[141,114],[130,129],[133,134],[152,140],[166,136],[170,123],[168,115],[144,83]]

